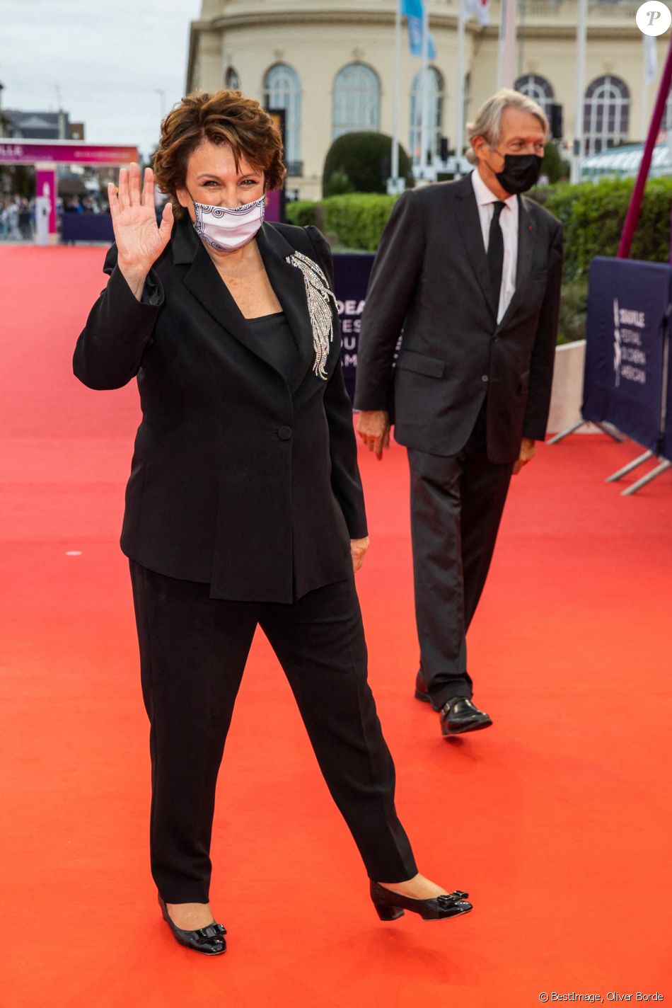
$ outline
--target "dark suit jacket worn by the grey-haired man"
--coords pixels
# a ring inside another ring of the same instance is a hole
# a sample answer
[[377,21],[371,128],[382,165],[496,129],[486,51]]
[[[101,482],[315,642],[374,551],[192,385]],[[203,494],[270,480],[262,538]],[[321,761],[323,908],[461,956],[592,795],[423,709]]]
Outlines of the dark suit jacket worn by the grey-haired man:
[[455,455],[486,392],[492,462],[514,462],[523,436],[545,436],[562,226],[524,196],[518,209],[516,292],[498,325],[471,175],[395,204],[362,317],[355,406],[389,409],[394,382],[395,437],[408,448]]

